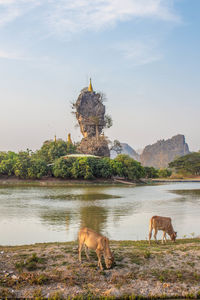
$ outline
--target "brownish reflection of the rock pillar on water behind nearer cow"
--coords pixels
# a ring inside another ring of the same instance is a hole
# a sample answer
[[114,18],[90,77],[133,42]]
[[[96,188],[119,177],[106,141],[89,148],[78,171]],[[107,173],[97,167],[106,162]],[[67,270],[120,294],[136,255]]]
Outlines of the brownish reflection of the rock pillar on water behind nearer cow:
[[107,220],[108,210],[100,206],[87,206],[80,208],[81,227],[89,227],[101,233]]

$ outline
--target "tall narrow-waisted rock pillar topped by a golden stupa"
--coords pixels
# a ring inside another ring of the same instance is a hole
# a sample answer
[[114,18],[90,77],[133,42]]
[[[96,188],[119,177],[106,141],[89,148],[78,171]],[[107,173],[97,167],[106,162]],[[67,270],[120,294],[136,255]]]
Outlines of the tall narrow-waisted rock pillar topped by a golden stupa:
[[110,156],[107,139],[102,135],[106,127],[105,105],[102,103],[102,95],[93,91],[91,81],[89,87],[81,91],[73,108],[83,135],[78,151]]

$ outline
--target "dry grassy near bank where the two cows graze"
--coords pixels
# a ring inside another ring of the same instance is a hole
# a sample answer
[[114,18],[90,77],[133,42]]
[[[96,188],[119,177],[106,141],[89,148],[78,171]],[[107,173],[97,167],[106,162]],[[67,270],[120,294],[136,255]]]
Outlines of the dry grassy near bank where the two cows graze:
[[116,265],[104,271],[94,252],[90,262],[85,254],[78,262],[77,242],[0,246],[0,298],[200,297],[200,239],[151,246],[111,241],[110,246]]

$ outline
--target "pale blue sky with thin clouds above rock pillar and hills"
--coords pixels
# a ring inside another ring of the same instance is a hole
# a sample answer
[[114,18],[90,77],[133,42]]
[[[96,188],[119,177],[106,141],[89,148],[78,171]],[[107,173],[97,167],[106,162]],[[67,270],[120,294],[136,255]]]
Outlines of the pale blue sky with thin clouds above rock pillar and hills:
[[200,150],[200,0],[0,0],[0,151],[80,141],[89,78],[105,135],[135,150],[184,134]]

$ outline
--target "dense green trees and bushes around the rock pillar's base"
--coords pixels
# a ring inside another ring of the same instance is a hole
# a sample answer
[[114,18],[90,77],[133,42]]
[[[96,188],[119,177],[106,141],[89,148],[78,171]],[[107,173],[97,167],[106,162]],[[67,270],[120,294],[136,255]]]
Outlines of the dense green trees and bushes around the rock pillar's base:
[[[76,145],[58,141],[46,141],[41,149],[29,149],[15,153],[0,152],[0,176],[15,176],[22,179],[57,177],[65,179],[95,179],[123,177],[129,180],[156,178],[166,170],[143,167],[130,156],[119,154],[115,159],[107,157],[69,157],[76,153]],[[162,174],[163,176],[169,174]]]

